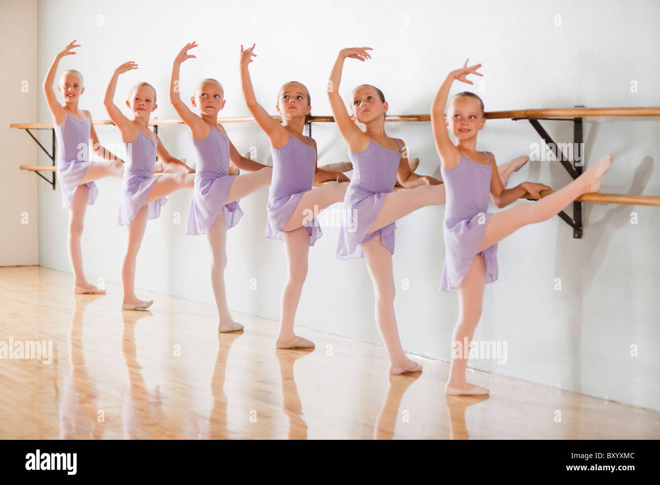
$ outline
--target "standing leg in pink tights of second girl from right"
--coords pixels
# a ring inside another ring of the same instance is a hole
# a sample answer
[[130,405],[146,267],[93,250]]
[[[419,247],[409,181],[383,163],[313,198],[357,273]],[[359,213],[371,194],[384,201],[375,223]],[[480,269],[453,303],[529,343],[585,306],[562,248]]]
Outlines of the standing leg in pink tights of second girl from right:
[[[394,275],[392,271],[392,255],[380,240],[380,235],[366,243],[361,243],[366,259],[367,269],[374,284],[376,297],[376,325],[380,336],[385,342],[389,361],[392,364],[391,373],[418,372],[422,366],[416,364],[403,352],[397,319],[394,315]],[[402,372],[393,372],[400,370]]]

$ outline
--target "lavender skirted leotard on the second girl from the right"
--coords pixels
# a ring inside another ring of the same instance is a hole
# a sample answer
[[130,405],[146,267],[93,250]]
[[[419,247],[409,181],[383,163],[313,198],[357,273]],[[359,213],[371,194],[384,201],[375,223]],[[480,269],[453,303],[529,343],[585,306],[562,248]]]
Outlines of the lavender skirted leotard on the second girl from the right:
[[390,150],[369,139],[369,145],[362,152],[348,150],[353,163],[353,178],[346,189],[344,210],[347,225],[339,230],[337,257],[341,259],[364,257],[360,243],[376,238],[380,234],[381,243],[394,253],[394,230],[392,222],[384,228],[370,232],[385,202],[385,196],[394,190],[401,162],[401,142],[397,139],[399,151]]

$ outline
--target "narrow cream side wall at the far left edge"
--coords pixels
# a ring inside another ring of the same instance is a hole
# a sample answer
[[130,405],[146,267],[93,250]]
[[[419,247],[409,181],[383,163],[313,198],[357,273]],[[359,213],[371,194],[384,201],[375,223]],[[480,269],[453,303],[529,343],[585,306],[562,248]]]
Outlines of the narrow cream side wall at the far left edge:
[[[20,40],[20,42],[16,42]],[[41,81],[37,77],[37,1],[0,3],[0,266],[36,265],[39,261],[37,186],[39,176],[20,165],[34,165],[37,150],[30,135],[11,123],[37,119]],[[49,146],[47,146],[49,148]],[[48,164],[51,161],[48,160]],[[46,172],[46,176],[50,176]],[[39,179],[40,180],[40,179]],[[46,184],[46,182],[43,182]]]

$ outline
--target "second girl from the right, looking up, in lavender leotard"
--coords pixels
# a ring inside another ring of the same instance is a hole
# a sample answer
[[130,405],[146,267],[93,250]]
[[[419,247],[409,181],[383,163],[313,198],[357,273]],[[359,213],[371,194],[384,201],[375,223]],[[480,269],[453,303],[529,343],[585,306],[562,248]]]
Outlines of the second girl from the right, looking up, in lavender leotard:
[[[371,57],[368,50],[372,49],[343,49],[330,75],[330,105],[353,164],[353,179],[343,202],[347,224],[340,230],[337,257],[366,259],[376,294],[376,323],[391,363],[389,373],[419,372],[422,366],[403,352],[394,315],[395,220],[420,207],[444,203],[444,186],[432,177],[411,174],[402,154],[405,144],[385,133],[387,102],[378,88],[362,84],[350,96],[353,118],[364,125],[365,131],[348,115],[339,96],[344,59],[365,61]],[[411,190],[393,192],[397,179]]]

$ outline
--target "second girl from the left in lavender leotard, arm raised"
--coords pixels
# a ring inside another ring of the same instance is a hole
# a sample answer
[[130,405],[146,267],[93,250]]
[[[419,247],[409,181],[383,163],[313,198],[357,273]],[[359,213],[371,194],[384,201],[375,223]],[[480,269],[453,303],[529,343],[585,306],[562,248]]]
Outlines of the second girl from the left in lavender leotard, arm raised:
[[[151,84],[139,82],[131,88],[126,106],[131,110],[133,119],[125,117],[114,104],[119,75],[132,69],[137,69],[133,61],[117,67],[104,99],[110,119],[121,131],[121,144],[126,157],[119,198],[119,225],[128,226],[126,250],[121,262],[121,309],[124,310],[147,308],[153,303],[153,300],[145,302],[135,296],[135,259],[145,235],[147,219],[160,216],[160,207],[167,201],[165,195],[182,187],[192,188],[195,178],[195,170],[170,155],[158,135],[149,129],[150,114],[158,106],[156,90]],[[170,168],[185,173],[152,177],[156,155]]]

